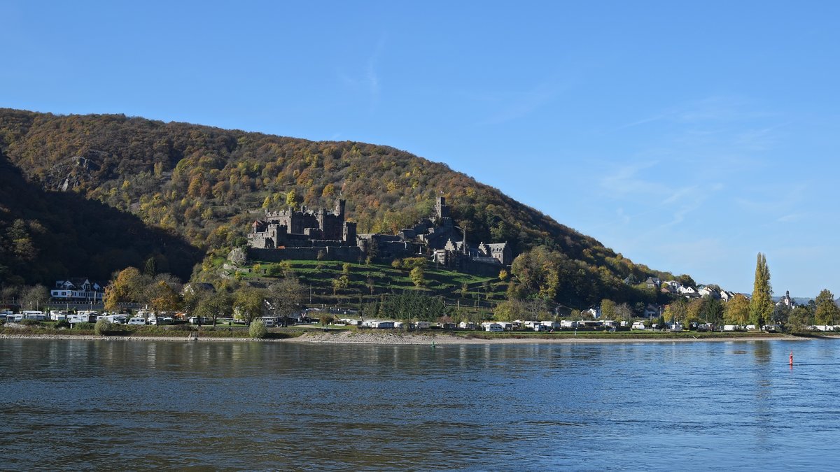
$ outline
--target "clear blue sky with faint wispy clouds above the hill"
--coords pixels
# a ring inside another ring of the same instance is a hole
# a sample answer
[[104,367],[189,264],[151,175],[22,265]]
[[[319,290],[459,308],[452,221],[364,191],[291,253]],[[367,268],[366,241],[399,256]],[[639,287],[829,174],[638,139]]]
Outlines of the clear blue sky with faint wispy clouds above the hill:
[[388,144],[651,267],[840,292],[840,3],[0,0],[0,107]]

